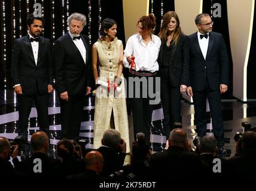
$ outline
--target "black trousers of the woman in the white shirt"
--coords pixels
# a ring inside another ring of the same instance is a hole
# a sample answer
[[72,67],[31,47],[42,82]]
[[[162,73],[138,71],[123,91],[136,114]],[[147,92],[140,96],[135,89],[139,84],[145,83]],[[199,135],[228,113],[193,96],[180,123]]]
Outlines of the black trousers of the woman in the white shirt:
[[[145,80],[145,83],[133,83],[131,85],[130,79],[137,78]],[[153,84],[149,83],[149,78],[152,79]],[[133,130],[134,138],[136,140],[137,133],[144,133],[146,138],[146,143],[150,144],[150,128],[152,127],[152,113],[153,113],[153,104],[150,104],[151,98],[148,94],[148,88],[153,88],[155,90],[156,76],[137,76],[135,74],[129,73],[129,103],[132,110],[133,116]],[[151,87],[153,85],[153,87]],[[132,97],[130,96],[130,88],[133,88]],[[139,96],[138,96],[139,91]],[[136,96],[137,94],[137,96]],[[144,95],[144,96],[143,96]]]

